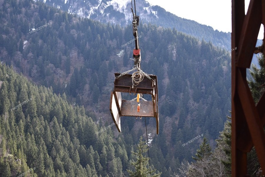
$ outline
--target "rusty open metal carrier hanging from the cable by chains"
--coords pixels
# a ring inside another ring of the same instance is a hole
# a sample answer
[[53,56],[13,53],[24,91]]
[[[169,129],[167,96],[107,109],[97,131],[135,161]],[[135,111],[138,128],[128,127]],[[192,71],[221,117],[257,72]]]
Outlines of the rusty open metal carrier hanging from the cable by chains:
[[[156,119],[156,134],[159,133],[159,115],[158,115],[158,84],[157,76],[148,75],[143,80],[132,88],[132,75],[125,74],[119,78],[120,73],[115,73],[114,89],[110,95],[110,113],[116,127],[121,132],[120,117],[155,117]],[[150,94],[152,101],[141,101],[140,112],[138,109],[138,102],[133,100],[123,100],[121,92],[130,94]]]

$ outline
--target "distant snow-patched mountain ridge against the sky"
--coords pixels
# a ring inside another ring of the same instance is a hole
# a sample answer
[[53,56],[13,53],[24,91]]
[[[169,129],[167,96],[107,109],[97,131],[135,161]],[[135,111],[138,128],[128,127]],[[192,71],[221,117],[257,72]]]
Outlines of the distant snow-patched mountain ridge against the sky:
[[[127,26],[132,22],[131,1],[130,0],[40,0],[50,6],[64,10],[72,14],[78,14],[80,17],[86,17],[99,20],[102,23],[114,23],[121,26]],[[160,6],[151,5],[145,0],[136,0],[137,15],[140,21],[152,23],[166,28],[175,28],[176,30],[197,37],[198,39],[212,42],[214,45],[231,48],[231,33],[213,30],[212,27],[199,24],[193,20],[178,17],[165,11]],[[152,2],[151,2],[152,3]],[[185,6],[183,8],[187,8]],[[188,10],[188,9],[187,9]]]

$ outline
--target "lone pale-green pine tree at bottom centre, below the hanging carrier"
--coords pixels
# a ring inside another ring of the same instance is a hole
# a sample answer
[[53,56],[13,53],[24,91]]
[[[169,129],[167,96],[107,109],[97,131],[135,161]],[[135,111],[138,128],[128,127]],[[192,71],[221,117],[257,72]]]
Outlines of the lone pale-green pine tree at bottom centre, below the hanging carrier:
[[[146,158],[145,156],[143,156],[143,153],[147,152],[147,145],[146,142],[142,141],[143,137],[140,137],[139,140],[139,144],[137,146],[137,152],[133,152],[132,154],[134,154],[136,156],[136,162],[135,161],[131,161],[130,165],[134,166],[135,171],[133,172],[132,170],[127,170],[129,175],[131,177],[148,177],[150,176],[150,171],[149,169],[146,167],[147,163],[148,163],[148,158]],[[161,173],[158,172],[158,174],[155,173],[155,169],[151,170],[151,177],[156,177],[156,176],[160,176]]]

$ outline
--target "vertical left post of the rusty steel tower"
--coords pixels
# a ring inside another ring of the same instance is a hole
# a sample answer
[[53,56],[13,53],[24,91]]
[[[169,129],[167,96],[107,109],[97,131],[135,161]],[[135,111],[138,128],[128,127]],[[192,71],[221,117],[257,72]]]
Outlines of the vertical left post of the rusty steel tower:
[[[245,1],[232,0],[232,33],[231,33],[231,48],[238,47],[240,39],[240,31],[242,29],[245,17]],[[238,50],[232,51],[231,60],[231,109],[232,109],[232,125],[231,125],[231,168],[232,177],[243,176],[246,174],[246,153],[238,148],[240,147],[236,139],[241,130],[242,124],[246,123],[244,119],[243,110],[236,88],[236,57]],[[240,119],[240,117],[243,117]]]

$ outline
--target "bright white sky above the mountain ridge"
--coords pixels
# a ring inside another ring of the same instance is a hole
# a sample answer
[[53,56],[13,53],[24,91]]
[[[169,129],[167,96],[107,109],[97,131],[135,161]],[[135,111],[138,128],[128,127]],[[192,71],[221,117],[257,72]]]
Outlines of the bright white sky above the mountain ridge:
[[[214,30],[231,32],[231,0],[147,0],[152,5],[163,7],[178,17],[191,19],[213,27]],[[245,0],[245,12],[250,0]],[[263,25],[259,39],[263,39]]]

